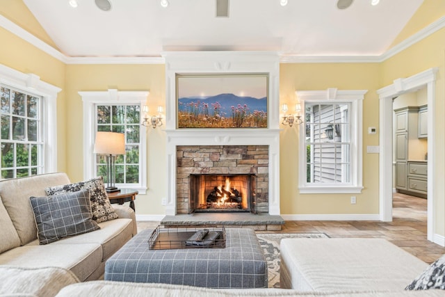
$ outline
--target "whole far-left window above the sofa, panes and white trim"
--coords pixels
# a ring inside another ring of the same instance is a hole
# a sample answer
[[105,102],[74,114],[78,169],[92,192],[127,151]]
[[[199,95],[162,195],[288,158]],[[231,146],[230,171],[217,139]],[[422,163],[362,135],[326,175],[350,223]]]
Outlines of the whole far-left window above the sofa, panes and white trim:
[[57,170],[60,88],[0,65],[1,179]]

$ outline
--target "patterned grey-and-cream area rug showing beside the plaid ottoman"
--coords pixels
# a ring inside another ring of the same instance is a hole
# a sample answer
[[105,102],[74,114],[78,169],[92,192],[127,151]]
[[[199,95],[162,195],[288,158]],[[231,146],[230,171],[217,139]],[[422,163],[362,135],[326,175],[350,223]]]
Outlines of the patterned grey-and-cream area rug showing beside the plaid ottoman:
[[324,233],[257,233],[268,265],[268,287],[280,287],[280,241],[284,238],[329,238]]

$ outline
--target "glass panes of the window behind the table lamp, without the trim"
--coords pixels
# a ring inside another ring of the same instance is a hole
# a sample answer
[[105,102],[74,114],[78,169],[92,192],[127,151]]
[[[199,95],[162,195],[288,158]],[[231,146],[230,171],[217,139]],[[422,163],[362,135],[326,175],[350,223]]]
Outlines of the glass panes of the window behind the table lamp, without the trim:
[[[140,105],[96,105],[96,131],[125,134],[125,154],[115,160],[115,182],[118,186],[138,186],[140,181]],[[106,175],[106,157],[96,156],[96,175]]]

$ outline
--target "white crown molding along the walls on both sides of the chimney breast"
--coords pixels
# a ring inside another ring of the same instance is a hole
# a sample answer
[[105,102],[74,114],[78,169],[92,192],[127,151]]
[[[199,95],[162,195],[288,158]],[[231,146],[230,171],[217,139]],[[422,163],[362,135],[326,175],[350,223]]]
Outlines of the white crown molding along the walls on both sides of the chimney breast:
[[[29,42],[31,45],[34,45],[38,49],[65,64],[165,64],[164,56],[70,57],[63,54],[61,51],[58,51],[58,49],[51,47],[46,42],[35,37],[28,31],[22,29],[22,27],[18,26],[6,17],[3,17],[3,15],[0,15],[0,27],[10,31],[11,33],[17,35],[17,37],[22,38],[26,42]],[[441,17],[440,19],[437,19],[437,21],[421,29],[419,32],[414,33],[414,35],[403,40],[403,42],[400,42],[398,45],[378,56],[286,56],[286,54],[281,54],[280,63],[382,63],[388,58],[391,58],[408,47],[411,47],[444,27],[445,17]]]

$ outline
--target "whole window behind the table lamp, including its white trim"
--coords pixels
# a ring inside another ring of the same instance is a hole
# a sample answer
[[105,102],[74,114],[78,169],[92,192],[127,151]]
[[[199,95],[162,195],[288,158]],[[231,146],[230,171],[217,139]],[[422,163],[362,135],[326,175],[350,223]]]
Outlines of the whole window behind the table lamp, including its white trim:
[[116,186],[131,188],[140,194],[147,191],[147,136],[140,125],[142,104],[148,92],[108,90],[79,92],[83,100],[84,179],[103,176],[106,180],[106,158],[95,155],[96,131],[125,134],[125,154],[116,156]]

